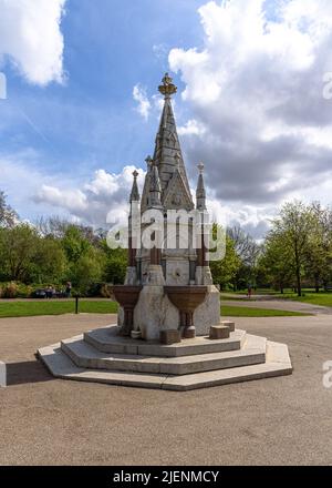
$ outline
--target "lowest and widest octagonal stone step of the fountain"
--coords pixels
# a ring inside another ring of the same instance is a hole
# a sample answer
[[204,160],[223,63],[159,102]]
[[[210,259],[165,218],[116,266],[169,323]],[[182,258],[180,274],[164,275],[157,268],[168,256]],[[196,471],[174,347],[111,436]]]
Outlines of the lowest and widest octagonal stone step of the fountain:
[[186,392],[231,383],[290,375],[288,347],[267,342],[266,363],[184,376],[148,375],[80,368],[63,353],[60,344],[39,349],[38,355],[54,377],[107,385]]

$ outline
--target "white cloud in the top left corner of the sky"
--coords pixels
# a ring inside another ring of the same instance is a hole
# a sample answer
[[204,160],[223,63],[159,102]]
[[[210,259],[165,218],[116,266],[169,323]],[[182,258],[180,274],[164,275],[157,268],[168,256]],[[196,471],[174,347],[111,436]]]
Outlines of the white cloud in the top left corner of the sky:
[[0,0],[0,62],[10,60],[30,83],[62,82],[65,2]]

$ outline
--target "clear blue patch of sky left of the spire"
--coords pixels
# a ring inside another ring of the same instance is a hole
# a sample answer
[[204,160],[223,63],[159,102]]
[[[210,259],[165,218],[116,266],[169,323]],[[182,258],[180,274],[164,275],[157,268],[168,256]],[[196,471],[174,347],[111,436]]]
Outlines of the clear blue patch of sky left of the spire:
[[[10,63],[4,67],[2,152],[30,148],[39,167],[79,177],[98,167],[143,164],[156,123],[135,111],[133,87],[139,82],[157,93],[167,47],[186,48],[201,37],[194,8],[200,3],[178,0],[169,9],[164,0],[69,0],[61,29],[65,83],[35,87]],[[156,55],[153,47],[163,44],[165,53]]]

